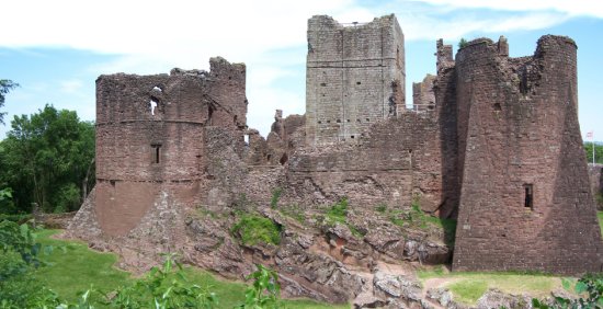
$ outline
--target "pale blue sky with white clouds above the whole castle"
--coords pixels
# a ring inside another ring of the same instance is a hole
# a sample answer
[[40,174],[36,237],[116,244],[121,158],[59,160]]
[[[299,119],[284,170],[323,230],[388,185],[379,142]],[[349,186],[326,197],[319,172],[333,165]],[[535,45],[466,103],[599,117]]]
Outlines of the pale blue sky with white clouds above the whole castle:
[[[600,87],[603,2],[514,0],[305,1],[9,1],[2,4],[0,79],[21,87],[7,96],[0,138],[14,115],[46,103],[93,121],[94,81],[102,73],[167,73],[208,69],[223,56],[246,62],[248,125],[266,135],[274,110],[303,114],[307,20],[329,14],[366,22],[395,13],[406,37],[407,101],[411,84],[435,71],[435,41],[507,36],[513,57],[533,55],[538,37],[558,34],[578,44],[582,136],[603,140]],[[456,50],[455,50],[456,52]]]

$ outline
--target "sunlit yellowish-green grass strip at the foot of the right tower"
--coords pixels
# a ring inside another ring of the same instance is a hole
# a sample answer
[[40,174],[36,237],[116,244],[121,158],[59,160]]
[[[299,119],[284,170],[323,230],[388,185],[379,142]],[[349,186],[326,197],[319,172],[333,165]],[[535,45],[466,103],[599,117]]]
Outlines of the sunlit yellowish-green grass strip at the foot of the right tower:
[[527,293],[542,297],[556,288],[562,288],[559,277],[544,274],[507,273],[444,273],[442,268],[420,271],[417,276],[421,282],[430,278],[450,278],[445,284],[453,293],[454,299],[467,305],[475,305],[488,289],[498,288],[504,293]]

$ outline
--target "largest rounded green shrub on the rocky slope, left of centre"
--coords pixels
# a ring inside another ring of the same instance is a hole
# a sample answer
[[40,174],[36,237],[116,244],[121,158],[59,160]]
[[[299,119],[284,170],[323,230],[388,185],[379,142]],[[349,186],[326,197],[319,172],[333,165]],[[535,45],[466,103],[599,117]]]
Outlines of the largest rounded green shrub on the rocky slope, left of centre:
[[282,227],[273,220],[259,216],[242,214],[240,220],[232,227],[231,232],[237,234],[243,244],[281,243]]

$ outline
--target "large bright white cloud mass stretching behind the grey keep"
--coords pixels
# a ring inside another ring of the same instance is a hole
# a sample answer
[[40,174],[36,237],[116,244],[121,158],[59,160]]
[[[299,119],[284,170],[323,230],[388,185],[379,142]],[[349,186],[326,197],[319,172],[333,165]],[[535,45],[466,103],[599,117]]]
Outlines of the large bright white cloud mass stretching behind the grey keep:
[[[298,76],[305,67],[311,15],[366,22],[394,12],[407,39],[457,39],[474,32],[504,34],[547,27],[573,15],[603,16],[601,4],[580,3],[587,2],[400,0],[362,5],[356,0],[20,0],[2,4],[0,26],[10,31],[0,33],[0,46],[67,47],[115,55],[109,62],[87,68],[94,75],[207,69],[209,57],[218,55],[246,62],[249,125],[265,135],[275,108],[285,114],[304,112],[303,92],[275,84],[292,78],[304,82]],[[483,16],[467,9],[504,14]],[[72,93],[80,87],[75,80],[62,81],[60,90]]]

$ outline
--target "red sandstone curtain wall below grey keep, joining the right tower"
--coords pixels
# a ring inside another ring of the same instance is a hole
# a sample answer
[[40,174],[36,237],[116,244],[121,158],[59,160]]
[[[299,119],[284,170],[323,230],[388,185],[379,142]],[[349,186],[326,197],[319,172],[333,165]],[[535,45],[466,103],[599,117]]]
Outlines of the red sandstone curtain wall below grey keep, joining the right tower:
[[[371,129],[360,145],[306,149],[291,159],[287,188],[299,203],[348,197],[359,207],[409,207],[412,196],[435,211],[442,204],[442,152],[437,112],[402,113]],[[411,134],[409,134],[411,133]]]

